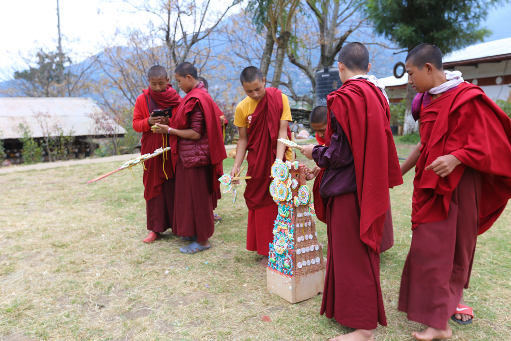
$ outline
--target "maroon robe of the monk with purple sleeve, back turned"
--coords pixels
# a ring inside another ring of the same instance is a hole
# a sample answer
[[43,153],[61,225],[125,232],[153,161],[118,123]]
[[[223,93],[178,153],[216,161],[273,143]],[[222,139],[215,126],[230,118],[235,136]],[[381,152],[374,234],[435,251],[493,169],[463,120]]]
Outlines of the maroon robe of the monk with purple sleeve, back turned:
[[[318,217],[327,222],[328,260],[320,314],[356,329],[387,325],[380,287],[380,245],[390,207],[389,188],[403,183],[390,131],[390,110],[380,89],[348,80],[327,98],[329,113],[353,153],[355,192],[318,198]],[[333,127],[329,121],[326,146]],[[368,148],[370,146],[370,148]],[[383,171],[382,171],[383,170]],[[324,169],[316,181],[323,178]]]

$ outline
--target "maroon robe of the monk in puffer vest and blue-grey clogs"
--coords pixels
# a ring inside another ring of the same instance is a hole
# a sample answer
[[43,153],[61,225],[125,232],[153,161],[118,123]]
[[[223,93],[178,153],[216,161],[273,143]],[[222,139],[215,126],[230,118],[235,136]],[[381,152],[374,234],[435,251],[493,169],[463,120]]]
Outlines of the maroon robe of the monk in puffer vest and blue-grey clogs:
[[227,157],[221,116],[223,113],[200,82],[183,98],[170,123],[176,129],[197,131],[201,139],[207,133],[211,162],[207,166],[184,168],[179,157],[179,139],[176,135],[171,135],[170,139],[174,148],[172,159],[176,161],[173,232],[182,237],[196,236],[199,242],[208,240],[215,231],[213,209],[218,200],[218,178],[223,174],[222,161]]

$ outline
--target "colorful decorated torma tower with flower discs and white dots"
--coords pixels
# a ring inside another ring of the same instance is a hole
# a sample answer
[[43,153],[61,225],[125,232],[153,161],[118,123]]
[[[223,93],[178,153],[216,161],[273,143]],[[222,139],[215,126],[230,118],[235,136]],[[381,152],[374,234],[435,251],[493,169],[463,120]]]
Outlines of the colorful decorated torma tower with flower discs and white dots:
[[268,266],[287,276],[312,274],[324,268],[317,242],[314,204],[305,185],[305,165],[276,160],[270,193],[278,205]]

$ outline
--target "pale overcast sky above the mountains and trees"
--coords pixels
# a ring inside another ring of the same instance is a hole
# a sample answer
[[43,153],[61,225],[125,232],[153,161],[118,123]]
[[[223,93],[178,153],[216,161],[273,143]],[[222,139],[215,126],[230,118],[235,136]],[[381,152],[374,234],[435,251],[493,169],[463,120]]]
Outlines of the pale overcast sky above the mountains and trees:
[[[157,0],[152,1],[156,3]],[[223,7],[218,3],[226,4],[226,1],[216,0],[215,8]],[[55,49],[56,3],[56,0],[2,1],[0,79],[12,76],[12,67],[20,62],[18,51],[27,52],[41,46]],[[118,27],[144,26],[148,18],[145,14],[126,13],[122,9],[119,2],[60,0],[60,27],[71,40],[69,47],[82,55],[95,53],[105,38],[111,38]],[[511,4],[493,10],[484,25],[494,33],[485,40],[511,37],[510,17]]]

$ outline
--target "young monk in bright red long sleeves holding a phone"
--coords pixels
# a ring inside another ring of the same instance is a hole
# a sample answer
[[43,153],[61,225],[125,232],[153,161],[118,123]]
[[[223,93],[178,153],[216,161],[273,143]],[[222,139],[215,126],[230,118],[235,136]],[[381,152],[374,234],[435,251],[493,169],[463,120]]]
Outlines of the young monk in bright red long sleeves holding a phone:
[[[148,72],[149,88],[138,96],[133,111],[133,129],[142,132],[142,154],[168,146],[167,135],[155,133],[151,126],[156,123],[168,124],[165,116],[151,116],[156,109],[175,108],[181,97],[169,84],[165,68],[152,66]],[[144,198],[146,199],[147,229],[145,243],[155,241],[159,234],[172,227],[174,219],[174,172],[170,154],[153,157],[144,163]]]

